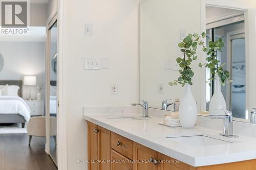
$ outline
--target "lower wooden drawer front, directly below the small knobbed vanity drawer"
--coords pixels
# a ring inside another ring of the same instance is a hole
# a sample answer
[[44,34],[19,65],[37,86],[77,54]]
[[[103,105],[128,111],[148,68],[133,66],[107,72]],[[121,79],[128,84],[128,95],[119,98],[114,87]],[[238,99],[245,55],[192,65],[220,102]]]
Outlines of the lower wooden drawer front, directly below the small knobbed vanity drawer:
[[118,152],[111,150],[111,170],[132,170],[133,163],[130,159],[119,154]]

